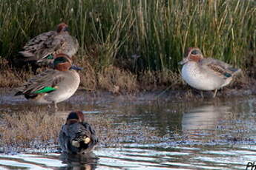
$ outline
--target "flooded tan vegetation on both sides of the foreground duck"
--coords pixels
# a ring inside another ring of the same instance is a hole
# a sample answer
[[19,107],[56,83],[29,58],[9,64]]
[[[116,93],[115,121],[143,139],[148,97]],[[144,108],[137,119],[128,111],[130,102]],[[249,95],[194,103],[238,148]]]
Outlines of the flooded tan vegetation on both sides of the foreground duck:
[[[50,114],[42,110],[3,113],[0,118],[0,145],[19,149],[45,147],[49,143],[58,145],[59,131],[65,118],[66,115]],[[140,126],[140,130],[136,130],[127,122],[116,124],[108,114],[85,115],[85,121],[96,130],[101,146],[119,146],[121,142],[130,140],[128,137],[142,142],[142,138],[157,136],[157,132],[147,126]]]

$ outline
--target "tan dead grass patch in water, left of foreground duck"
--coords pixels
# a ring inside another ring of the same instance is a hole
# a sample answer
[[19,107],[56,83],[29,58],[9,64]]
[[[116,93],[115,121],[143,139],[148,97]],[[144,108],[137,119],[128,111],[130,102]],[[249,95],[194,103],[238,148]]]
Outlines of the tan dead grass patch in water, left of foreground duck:
[[30,143],[40,140],[42,143],[59,135],[63,119],[45,112],[19,112],[4,114],[1,118],[1,143],[7,146],[29,147]]

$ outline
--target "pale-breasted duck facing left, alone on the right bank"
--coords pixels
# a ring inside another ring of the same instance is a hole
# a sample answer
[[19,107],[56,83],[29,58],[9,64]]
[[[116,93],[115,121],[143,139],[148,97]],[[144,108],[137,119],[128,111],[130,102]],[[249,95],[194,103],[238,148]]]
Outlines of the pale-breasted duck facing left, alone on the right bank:
[[[188,48],[186,58],[180,61],[183,64],[182,77],[189,86],[199,90],[214,90],[228,85],[234,75],[241,71],[223,61],[214,58],[203,58],[199,48]],[[201,95],[203,96],[202,92]]]

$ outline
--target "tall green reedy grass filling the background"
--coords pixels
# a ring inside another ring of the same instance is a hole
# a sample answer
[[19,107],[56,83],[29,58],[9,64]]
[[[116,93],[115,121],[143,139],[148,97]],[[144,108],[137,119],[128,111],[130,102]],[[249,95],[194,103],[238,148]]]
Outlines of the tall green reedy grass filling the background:
[[253,0],[1,0],[0,56],[65,21],[96,70],[177,72],[186,47],[243,68],[256,53],[255,16]]

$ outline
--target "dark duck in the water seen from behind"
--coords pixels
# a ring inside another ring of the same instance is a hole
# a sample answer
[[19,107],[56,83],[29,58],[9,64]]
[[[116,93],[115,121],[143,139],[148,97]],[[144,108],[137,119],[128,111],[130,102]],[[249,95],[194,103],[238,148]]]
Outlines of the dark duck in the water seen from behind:
[[59,145],[63,152],[85,154],[98,143],[93,127],[84,122],[82,112],[70,112],[65,125],[59,132]]

